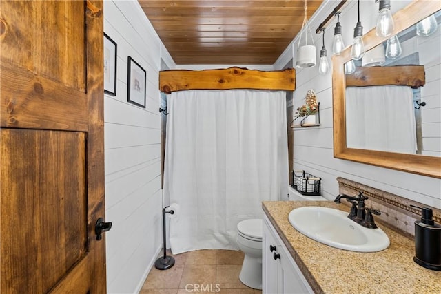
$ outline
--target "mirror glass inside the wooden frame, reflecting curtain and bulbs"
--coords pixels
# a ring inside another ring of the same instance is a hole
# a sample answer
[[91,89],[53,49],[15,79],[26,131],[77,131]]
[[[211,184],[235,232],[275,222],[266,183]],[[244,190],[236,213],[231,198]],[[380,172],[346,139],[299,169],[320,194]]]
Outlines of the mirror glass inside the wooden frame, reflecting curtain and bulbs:
[[345,63],[348,148],[441,156],[440,22],[438,11]]

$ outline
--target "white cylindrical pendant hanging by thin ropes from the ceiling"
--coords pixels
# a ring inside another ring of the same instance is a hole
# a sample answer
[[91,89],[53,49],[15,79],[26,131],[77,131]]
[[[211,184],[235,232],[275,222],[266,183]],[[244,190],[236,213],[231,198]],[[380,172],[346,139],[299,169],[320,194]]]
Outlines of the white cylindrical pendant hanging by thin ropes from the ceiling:
[[[302,30],[300,30],[300,39],[297,47],[297,61],[296,67],[304,68],[316,65],[316,46],[314,39],[312,39],[311,28],[308,25],[307,19],[307,0],[305,0],[305,18],[303,19]],[[308,44],[308,34],[311,36],[311,43]],[[304,43],[302,43],[302,34],[305,34]]]

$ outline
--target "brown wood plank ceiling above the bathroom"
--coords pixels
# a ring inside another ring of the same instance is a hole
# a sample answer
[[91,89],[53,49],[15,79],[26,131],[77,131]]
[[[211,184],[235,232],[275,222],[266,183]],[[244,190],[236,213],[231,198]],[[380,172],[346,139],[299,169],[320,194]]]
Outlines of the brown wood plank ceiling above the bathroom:
[[[307,0],[308,19],[322,1]],[[305,16],[302,0],[139,3],[176,64],[273,64]]]

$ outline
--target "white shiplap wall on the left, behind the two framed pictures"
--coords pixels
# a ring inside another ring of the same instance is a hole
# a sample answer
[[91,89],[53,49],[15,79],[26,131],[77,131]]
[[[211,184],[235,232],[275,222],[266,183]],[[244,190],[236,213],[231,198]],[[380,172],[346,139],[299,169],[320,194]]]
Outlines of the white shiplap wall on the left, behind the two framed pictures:
[[[137,293],[162,247],[158,72],[161,57],[174,63],[137,1],[104,1],[104,32],[118,44],[104,98],[107,293]],[[147,72],[145,109],[127,103],[127,56]]]

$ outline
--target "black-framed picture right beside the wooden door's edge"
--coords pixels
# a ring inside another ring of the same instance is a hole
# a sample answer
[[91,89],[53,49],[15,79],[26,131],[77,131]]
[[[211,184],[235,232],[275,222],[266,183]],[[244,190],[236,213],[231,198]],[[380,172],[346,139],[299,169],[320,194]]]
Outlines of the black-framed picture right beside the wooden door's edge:
[[104,92],[116,96],[116,43],[104,33]]

